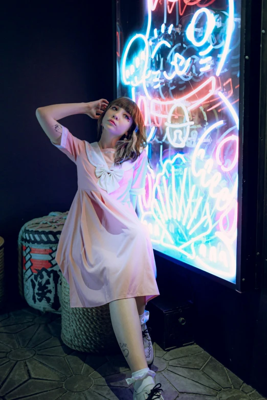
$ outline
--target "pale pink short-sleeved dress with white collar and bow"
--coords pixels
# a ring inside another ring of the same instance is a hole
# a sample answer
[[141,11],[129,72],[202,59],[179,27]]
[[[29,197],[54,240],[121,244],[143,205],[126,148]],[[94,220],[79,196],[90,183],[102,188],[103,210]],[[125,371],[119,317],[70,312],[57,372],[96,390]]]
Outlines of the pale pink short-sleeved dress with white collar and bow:
[[130,202],[144,191],[147,154],[114,166],[114,149],[101,150],[63,127],[54,145],[77,166],[78,191],[63,227],[56,261],[70,284],[71,307],[159,296],[147,228]]

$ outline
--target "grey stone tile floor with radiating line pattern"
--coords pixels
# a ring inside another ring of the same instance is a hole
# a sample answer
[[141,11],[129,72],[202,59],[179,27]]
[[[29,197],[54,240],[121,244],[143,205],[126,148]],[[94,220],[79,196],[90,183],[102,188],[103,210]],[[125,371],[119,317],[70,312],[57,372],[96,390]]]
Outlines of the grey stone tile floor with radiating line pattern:
[[[252,387],[197,345],[162,350],[152,369],[165,400],[260,400]],[[0,315],[0,398],[132,400],[124,357],[74,351],[60,339],[60,317],[31,308]]]

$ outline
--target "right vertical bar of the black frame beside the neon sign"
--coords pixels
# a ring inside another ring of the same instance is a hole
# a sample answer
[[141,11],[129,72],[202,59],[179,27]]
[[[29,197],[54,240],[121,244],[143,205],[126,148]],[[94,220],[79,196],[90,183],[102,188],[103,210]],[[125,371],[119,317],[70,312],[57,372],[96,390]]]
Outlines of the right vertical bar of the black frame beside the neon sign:
[[[260,8],[252,0],[243,0],[241,8],[240,46],[240,123],[238,201],[238,253],[236,289],[255,289],[257,184],[259,148],[259,62],[260,62]],[[258,73],[257,73],[258,71]],[[254,73],[256,72],[256,73]],[[242,145],[243,143],[243,145]],[[240,201],[241,200],[241,201]],[[241,245],[240,245],[241,244]]]

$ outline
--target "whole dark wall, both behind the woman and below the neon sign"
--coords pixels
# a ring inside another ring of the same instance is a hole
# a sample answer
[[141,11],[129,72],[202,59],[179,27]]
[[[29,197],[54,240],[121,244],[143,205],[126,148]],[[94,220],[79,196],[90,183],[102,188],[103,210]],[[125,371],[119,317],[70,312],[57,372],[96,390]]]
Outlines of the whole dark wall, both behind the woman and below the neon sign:
[[[17,237],[23,224],[70,208],[74,164],[42,132],[35,110],[55,103],[113,96],[112,1],[5,5],[2,8],[0,236],[5,239],[7,302],[19,301]],[[2,6],[3,7],[3,6]],[[71,132],[96,140],[86,115],[61,120]],[[266,391],[266,297],[237,293],[156,257],[163,296],[183,292],[196,311],[195,340],[247,383]],[[267,394],[265,392],[265,394]]]

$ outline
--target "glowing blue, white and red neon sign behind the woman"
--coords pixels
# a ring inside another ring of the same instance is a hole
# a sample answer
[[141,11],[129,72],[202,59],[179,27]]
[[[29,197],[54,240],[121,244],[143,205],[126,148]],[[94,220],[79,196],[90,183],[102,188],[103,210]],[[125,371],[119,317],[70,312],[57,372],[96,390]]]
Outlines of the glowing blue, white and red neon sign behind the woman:
[[241,2],[143,1],[142,30],[117,33],[118,95],[144,115],[152,166],[141,221],[154,249],[235,283]]

